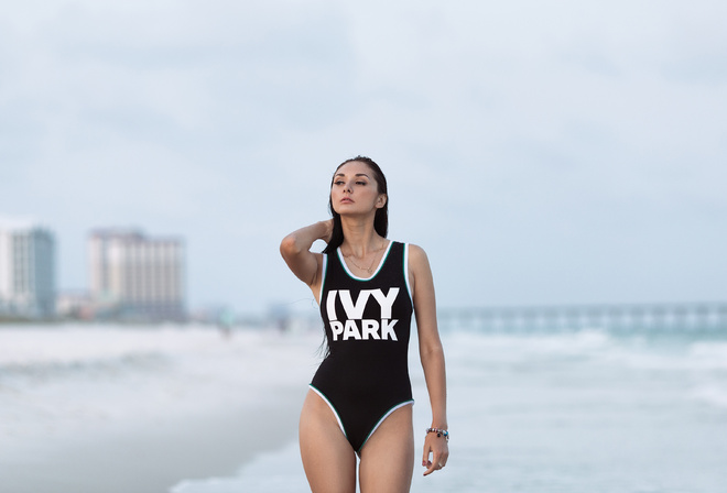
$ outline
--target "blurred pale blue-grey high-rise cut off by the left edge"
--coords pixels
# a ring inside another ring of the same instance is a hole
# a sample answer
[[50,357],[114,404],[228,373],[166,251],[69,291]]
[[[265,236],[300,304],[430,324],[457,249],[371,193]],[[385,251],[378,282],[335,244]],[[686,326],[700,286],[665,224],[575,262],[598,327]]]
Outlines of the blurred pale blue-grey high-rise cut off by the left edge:
[[31,223],[0,224],[0,314],[52,317],[55,289],[54,234]]

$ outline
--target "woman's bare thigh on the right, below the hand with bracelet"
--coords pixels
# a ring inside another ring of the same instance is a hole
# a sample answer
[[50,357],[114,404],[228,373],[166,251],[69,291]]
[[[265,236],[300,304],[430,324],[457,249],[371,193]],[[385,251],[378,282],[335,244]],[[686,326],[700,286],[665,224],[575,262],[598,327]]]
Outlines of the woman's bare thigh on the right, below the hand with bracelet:
[[361,450],[361,493],[405,493],[414,472],[412,406],[391,413]]

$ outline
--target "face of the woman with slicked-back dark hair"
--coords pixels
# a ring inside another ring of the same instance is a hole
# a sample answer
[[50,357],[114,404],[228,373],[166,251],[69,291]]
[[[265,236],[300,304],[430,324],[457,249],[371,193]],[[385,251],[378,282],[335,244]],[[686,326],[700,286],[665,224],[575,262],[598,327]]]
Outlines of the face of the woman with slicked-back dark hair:
[[330,202],[339,215],[368,213],[384,206],[373,172],[366,163],[350,161],[336,171],[330,186]]

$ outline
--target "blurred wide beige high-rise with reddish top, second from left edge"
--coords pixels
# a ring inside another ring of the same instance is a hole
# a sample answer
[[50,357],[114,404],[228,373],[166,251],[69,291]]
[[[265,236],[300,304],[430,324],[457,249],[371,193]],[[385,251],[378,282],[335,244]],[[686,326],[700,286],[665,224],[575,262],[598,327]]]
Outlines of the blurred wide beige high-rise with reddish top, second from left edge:
[[88,248],[90,295],[101,310],[127,319],[185,319],[182,240],[105,229],[91,231]]

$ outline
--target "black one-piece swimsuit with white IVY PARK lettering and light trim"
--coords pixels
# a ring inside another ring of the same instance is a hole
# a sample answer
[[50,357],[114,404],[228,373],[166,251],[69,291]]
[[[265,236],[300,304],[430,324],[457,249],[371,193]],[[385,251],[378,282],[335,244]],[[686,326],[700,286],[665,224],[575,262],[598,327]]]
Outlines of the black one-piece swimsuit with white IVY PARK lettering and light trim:
[[328,403],[359,454],[393,410],[414,402],[408,259],[409,245],[392,241],[378,270],[362,278],[348,270],[340,249],[324,255],[319,303],[329,353],[311,387]]

